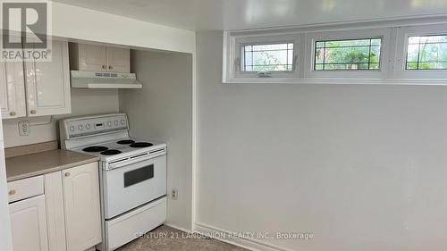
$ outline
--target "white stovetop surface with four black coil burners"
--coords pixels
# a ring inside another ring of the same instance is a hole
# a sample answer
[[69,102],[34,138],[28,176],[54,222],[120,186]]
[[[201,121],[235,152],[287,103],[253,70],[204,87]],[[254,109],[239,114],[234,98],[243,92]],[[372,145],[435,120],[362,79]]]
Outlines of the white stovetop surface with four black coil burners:
[[164,148],[166,144],[138,138],[119,138],[114,141],[101,142],[89,146],[80,146],[71,149],[88,155],[101,157],[102,161],[109,162],[114,159],[139,155],[148,151]]

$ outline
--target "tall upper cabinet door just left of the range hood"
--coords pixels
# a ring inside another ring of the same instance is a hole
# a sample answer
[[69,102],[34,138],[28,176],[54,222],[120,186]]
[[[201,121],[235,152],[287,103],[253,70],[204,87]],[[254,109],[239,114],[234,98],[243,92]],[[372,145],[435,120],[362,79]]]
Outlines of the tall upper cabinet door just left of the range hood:
[[50,62],[27,62],[29,116],[71,113],[68,43],[53,41]]

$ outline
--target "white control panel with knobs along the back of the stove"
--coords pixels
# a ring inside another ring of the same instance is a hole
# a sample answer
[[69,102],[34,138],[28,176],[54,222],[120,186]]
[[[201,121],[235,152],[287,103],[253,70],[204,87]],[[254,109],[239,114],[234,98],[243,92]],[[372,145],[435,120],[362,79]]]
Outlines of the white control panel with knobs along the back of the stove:
[[61,131],[65,139],[80,138],[101,133],[129,130],[125,113],[71,118],[61,121]]

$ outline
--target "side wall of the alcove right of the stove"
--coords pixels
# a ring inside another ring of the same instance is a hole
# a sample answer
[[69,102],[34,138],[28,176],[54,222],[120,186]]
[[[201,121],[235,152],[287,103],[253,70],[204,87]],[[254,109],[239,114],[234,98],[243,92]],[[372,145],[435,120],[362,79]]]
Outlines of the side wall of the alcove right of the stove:
[[143,89],[120,91],[120,109],[132,137],[167,143],[167,189],[179,192],[178,200],[168,199],[167,223],[191,230],[192,55],[137,51],[131,62]]

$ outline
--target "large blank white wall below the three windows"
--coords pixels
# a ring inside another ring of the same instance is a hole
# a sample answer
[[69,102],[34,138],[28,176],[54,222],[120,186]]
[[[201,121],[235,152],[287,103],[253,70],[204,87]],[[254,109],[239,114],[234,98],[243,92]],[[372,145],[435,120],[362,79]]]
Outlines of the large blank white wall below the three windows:
[[221,84],[198,34],[197,222],[292,250],[447,245],[447,88]]

